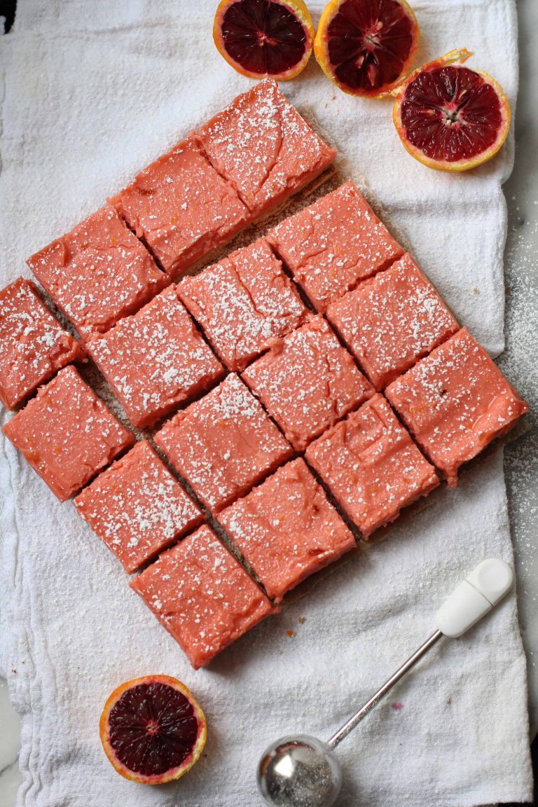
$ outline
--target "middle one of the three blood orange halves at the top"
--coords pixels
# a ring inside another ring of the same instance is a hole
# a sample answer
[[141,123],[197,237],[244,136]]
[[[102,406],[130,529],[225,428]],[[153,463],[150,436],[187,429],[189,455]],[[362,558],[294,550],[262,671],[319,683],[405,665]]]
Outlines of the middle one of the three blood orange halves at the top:
[[382,98],[407,75],[418,44],[419,24],[406,0],[331,0],[314,52],[340,90]]

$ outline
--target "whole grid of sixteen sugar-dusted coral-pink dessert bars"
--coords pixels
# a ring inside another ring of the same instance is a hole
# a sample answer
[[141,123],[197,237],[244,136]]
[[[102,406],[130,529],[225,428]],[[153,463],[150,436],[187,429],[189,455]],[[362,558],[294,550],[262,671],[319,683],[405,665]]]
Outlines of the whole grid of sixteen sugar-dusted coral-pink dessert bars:
[[0,292],[4,433],[194,667],[527,411],[352,182],[172,282],[334,158],[261,82],[29,259],[80,341]]

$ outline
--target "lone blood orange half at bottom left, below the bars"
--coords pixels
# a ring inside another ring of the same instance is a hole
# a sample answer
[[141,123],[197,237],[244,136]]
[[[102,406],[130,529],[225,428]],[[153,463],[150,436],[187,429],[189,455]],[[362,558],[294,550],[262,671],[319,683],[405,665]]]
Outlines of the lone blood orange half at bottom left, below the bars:
[[147,675],[112,692],[99,723],[102,747],[121,776],[164,784],[193,767],[206,744],[206,718],[181,681]]

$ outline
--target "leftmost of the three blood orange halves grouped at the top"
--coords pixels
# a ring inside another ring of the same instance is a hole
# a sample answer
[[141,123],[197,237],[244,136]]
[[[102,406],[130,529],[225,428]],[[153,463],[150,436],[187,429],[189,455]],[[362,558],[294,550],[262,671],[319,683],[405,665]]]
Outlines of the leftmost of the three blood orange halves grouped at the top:
[[303,0],[221,0],[213,39],[244,76],[286,81],[307,64],[314,26]]

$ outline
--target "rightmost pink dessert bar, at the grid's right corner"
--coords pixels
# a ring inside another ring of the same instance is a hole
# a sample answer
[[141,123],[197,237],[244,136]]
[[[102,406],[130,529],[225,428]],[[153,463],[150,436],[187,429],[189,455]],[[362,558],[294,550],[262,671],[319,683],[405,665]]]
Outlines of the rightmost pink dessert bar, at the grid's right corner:
[[459,466],[528,412],[466,328],[391,383],[386,396],[452,486]]

